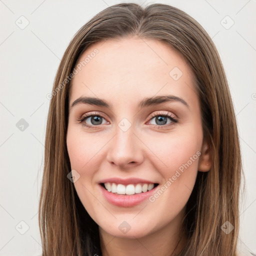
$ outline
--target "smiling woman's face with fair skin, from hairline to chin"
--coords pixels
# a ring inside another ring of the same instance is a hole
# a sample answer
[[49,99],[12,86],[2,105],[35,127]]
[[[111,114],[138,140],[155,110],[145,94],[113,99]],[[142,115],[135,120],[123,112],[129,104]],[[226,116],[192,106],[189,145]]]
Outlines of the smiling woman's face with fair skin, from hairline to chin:
[[77,63],[66,143],[83,206],[114,236],[180,228],[206,171],[190,68],[163,42],[136,37],[92,44]]

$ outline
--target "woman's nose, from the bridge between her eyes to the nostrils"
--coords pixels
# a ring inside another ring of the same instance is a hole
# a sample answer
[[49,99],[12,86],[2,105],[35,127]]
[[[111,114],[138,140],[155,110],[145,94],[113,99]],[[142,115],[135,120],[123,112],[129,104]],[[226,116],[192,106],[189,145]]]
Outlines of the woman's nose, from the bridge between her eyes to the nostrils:
[[113,137],[107,159],[120,167],[132,162],[139,163],[142,160],[142,151],[134,133],[134,125],[126,118],[116,124],[116,134]]

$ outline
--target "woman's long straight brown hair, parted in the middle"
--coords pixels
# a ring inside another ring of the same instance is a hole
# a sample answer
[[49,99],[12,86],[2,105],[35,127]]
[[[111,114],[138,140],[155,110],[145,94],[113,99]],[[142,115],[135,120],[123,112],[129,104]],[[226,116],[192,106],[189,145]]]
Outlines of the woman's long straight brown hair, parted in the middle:
[[[196,77],[203,136],[212,150],[212,167],[198,172],[186,205],[187,243],[179,255],[236,255],[241,156],[232,100],[218,52],[192,17],[166,4],[142,8],[136,3],[112,5],[83,25],[60,61],[47,119],[44,169],[39,202],[43,256],[101,254],[98,225],[82,206],[73,183],[66,148],[70,74],[94,42],[138,36],[176,49]],[[100,54],[100,53],[99,53]],[[234,229],[226,234],[221,226]]]

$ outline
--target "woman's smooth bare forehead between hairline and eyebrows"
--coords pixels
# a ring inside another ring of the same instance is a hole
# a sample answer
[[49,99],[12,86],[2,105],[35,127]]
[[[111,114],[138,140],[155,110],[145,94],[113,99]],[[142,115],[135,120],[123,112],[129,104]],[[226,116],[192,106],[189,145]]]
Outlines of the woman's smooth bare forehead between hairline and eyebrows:
[[76,70],[70,102],[81,95],[118,96],[116,100],[158,92],[196,96],[194,76],[186,61],[159,40],[132,37],[94,43],[80,56]]

